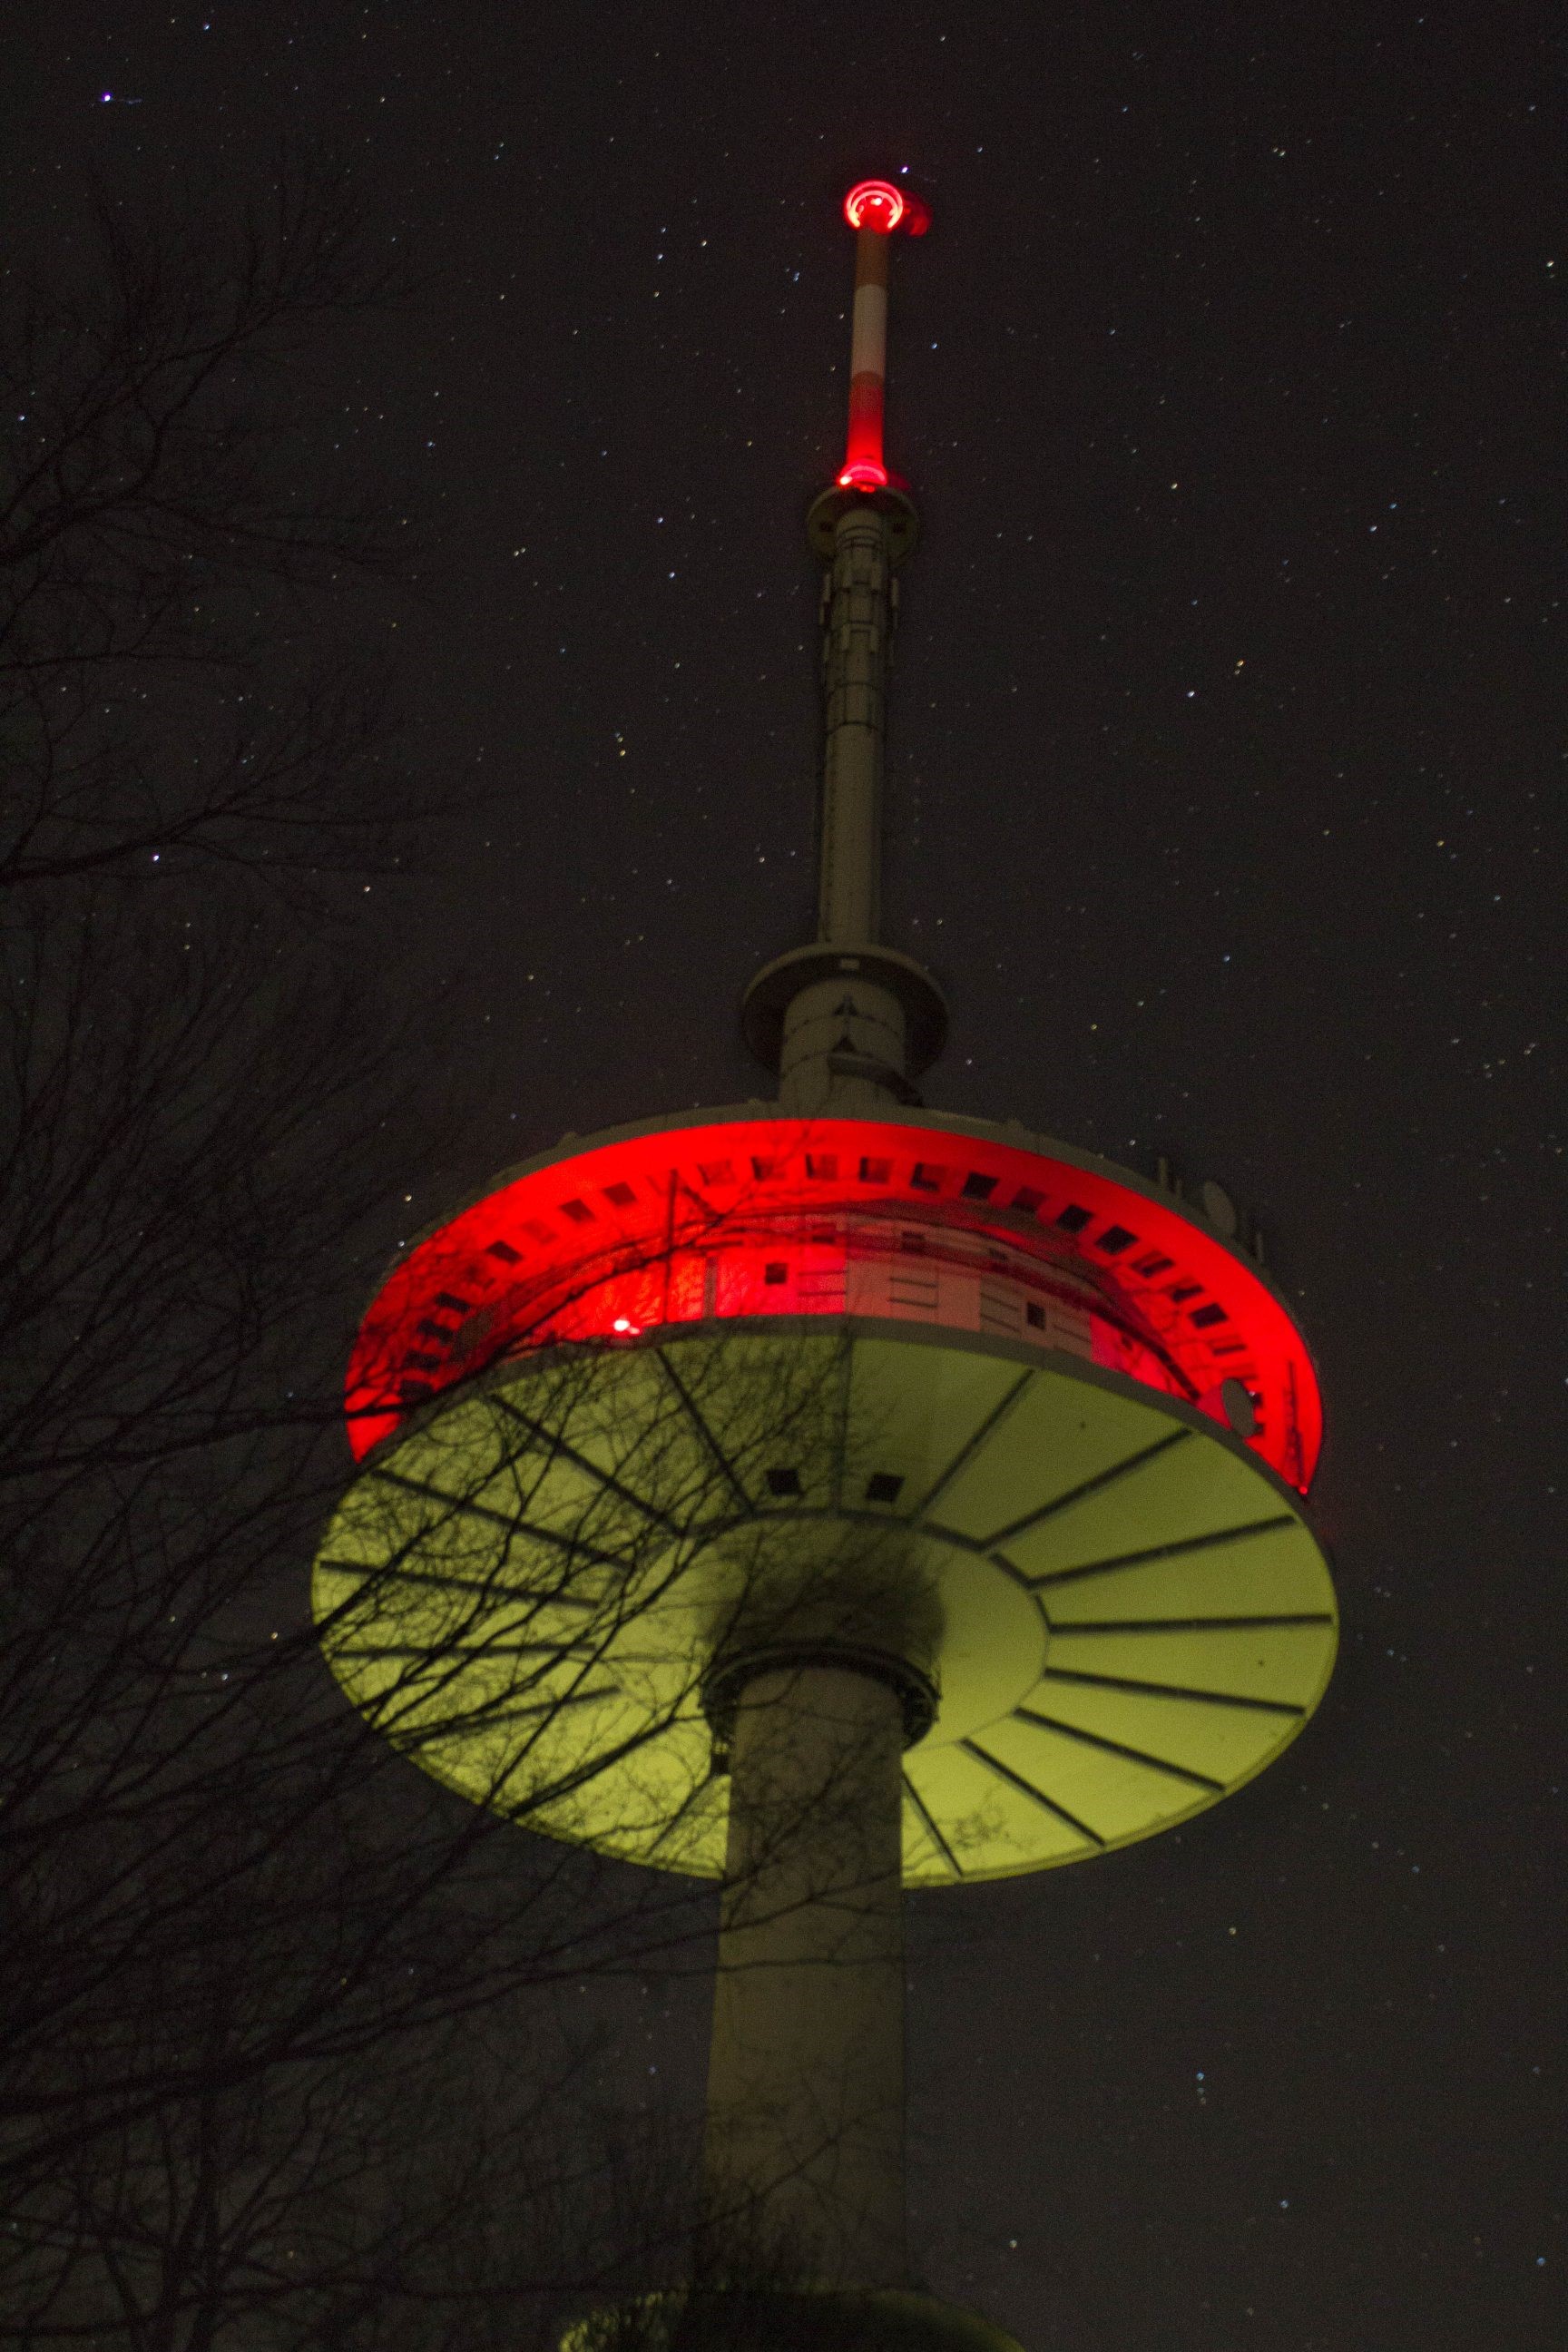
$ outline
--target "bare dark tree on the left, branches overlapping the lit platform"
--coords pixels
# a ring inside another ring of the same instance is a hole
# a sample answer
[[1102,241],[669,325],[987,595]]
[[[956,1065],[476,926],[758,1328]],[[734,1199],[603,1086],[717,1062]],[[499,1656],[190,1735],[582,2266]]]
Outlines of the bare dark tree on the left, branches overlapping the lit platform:
[[578,1710],[621,1691],[621,1846],[670,1858],[715,1750],[637,1625],[705,1559],[719,1646],[783,1590],[724,1564],[736,1465],[837,1395],[512,1334],[355,1486],[310,1618],[348,1331],[444,1124],[289,903],[407,847],[374,675],[306,654],[402,539],[294,459],[364,252],[294,181],[0,315],[0,2343],[447,2352],[679,2267],[679,2164],[555,1994],[705,1966],[710,1907],[571,1844]]

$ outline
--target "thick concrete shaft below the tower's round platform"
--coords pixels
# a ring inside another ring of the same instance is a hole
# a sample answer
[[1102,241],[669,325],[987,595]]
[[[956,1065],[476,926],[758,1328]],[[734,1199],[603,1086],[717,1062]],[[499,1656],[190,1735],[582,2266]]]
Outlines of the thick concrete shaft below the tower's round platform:
[[903,1710],[839,1665],[759,1672],[731,1736],[708,2072],[712,2260],[900,2286]]

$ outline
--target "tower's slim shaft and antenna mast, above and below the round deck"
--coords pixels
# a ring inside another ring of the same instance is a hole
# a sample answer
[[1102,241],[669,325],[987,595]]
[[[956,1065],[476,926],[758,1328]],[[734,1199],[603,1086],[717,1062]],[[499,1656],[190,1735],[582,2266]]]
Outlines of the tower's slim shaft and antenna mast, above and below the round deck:
[[[926,212],[889,181],[860,181],[844,216],[856,230],[846,449],[809,517],[827,562],[816,950],[783,960],[778,990],[778,1098],[802,1117],[919,1101],[912,1030],[924,1023],[929,1061],[945,1021],[919,964],[879,953],[896,564],[917,536],[882,449],[889,249],[900,223],[919,235]],[[818,2288],[905,2286],[905,1717],[844,1642],[804,1642],[783,1668],[766,1658],[738,1689],[729,1750],[708,2211],[719,2230],[743,2223],[788,2246]]]

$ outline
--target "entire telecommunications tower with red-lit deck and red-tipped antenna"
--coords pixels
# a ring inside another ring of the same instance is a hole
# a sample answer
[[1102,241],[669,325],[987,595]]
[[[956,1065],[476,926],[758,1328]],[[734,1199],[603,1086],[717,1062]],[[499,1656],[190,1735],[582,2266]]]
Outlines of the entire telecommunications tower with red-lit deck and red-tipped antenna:
[[[914,1091],[947,1014],[879,920],[917,536],[882,428],[926,209],[860,181],[844,214],[818,922],[743,1002],[778,1101],[569,1136],[400,1254],[315,1606],[449,1788],[722,1879],[708,2209],[795,2272],[745,2340],[980,2352],[1006,2338],[910,2288],[903,1886],[1093,1860],[1241,1788],[1316,1708],[1335,1599],[1316,1376],[1227,1195]],[[658,2307],[670,2343],[743,2340],[733,2296]]]

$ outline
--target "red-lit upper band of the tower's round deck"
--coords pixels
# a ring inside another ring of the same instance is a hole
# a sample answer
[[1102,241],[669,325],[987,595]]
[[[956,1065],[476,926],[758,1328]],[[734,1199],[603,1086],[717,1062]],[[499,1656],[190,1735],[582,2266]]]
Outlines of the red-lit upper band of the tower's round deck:
[[348,1369],[355,1454],[428,1399],[562,1341],[865,1317],[1011,1336],[1227,1423],[1307,1491],[1312,1357],[1239,1249],[1171,1195],[957,1120],[715,1112],[524,1167],[414,1244]]

